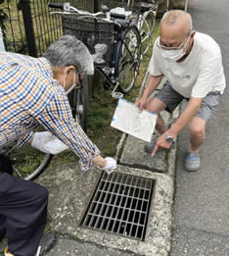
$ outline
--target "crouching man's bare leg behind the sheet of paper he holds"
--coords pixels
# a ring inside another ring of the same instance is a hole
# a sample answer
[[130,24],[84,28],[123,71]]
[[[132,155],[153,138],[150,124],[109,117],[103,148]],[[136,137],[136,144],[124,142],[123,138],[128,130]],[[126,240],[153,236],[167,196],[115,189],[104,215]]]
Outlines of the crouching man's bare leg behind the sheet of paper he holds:
[[152,98],[148,101],[146,108],[148,111],[154,111],[159,115],[156,128],[160,132],[160,134],[164,133],[166,131],[166,127],[162,118],[160,117],[160,111],[164,110],[166,108],[166,105],[160,99]]

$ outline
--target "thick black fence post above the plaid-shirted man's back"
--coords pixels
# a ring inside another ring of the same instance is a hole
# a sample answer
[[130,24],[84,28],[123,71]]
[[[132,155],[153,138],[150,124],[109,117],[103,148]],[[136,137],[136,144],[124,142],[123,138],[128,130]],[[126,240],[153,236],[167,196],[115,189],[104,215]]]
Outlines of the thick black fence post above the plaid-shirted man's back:
[[23,9],[23,26],[26,34],[28,54],[37,57],[35,35],[32,26],[30,0],[21,0]]

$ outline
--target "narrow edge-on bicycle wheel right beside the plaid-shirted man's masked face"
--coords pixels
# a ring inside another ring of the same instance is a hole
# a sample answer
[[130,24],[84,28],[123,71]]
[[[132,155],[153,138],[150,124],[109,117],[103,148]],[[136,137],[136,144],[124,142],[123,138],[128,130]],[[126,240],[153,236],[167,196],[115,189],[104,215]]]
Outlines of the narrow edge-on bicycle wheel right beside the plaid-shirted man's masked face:
[[85,76],[82,84],[76,86],[69,93],[69,104],[73,118],[87,133],[89,109],[89,77]]

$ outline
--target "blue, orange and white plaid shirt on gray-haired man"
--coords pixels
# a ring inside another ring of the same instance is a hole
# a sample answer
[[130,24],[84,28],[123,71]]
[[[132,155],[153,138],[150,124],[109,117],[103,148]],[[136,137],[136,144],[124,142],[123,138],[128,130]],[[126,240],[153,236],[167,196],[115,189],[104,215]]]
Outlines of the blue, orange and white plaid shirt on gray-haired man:
[[31,138],[41,125],[80,158],[87,171],[99,149],[72,118],[68,97],[45,58],[0,52],[0,146]]

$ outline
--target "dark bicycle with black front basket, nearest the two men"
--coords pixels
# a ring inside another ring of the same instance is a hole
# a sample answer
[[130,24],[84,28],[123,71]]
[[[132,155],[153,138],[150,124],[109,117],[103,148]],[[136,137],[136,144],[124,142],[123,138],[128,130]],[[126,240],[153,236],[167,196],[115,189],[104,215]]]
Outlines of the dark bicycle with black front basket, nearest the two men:
[[[114,1],[113,1],[114,3]],[[140,63],[140,33],[131,24],[126,13],[115,13],[103,6],[102,12],[81,11],[69,3],[49,3],[49,7],[61,9],[63,33],[75,35],[89,49],[94,58],[95,69],[104,77],[106,89],[114,86],[128,93],[134,86]]]

